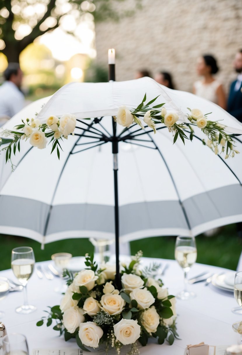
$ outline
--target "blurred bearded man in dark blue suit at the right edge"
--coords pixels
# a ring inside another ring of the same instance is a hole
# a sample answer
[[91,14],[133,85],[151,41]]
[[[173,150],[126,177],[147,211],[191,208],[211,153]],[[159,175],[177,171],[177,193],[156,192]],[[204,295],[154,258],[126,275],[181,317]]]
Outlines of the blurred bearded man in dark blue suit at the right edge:
[[236,53],[233,67],[238,76],[230,86],[227,111],[242,122],[242,49]]

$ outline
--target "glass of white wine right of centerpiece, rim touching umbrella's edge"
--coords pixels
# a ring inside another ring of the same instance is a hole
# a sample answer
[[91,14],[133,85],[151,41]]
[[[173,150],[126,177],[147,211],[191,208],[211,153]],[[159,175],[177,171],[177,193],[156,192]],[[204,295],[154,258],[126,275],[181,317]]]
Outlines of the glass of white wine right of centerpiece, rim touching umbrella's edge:
[[177,237],[175,245],[175,259],[184,272],[184,290],[176,296],[181,300],[189,300],[196,297],[194,292],[187,290],[187,273],[197,260],[197,247],[194,237]]

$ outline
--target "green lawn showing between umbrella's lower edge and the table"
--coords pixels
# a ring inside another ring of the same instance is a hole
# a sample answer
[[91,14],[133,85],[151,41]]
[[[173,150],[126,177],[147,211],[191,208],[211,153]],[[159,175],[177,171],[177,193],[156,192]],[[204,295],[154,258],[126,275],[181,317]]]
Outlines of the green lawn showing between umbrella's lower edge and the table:
[[[143,251],[146,257],[174,259],[176,237],[153,237],[131,242],[131,253]],[[212,237],[200,235],[196,237],[198,257],[197,262],[215,265],[235,270],[242,250],[242,239],[237,236],[236,225],[222,228]],[[11,250],[17,246],[31,246],[34,250],[35,260],[50,260],[51,255],[57,252],[69,252],[73,256],[83,256],[93,252],[93,246],[88,239],[66,239],[45,245],[32,239],[0,235],[0,270],[11,267]]]

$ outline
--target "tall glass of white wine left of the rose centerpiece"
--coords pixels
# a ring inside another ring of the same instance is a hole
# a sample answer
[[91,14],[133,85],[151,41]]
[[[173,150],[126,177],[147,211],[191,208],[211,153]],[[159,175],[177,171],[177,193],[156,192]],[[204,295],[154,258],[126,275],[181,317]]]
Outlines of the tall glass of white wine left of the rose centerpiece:
[[11,267],[13,274],[23,285],[24,303],[16,308],[17,313],[28,314],[34,312],[37,308],[29,305],[27,300],[26,285],[34,269],[34,252],[31,247],[21,246],[12,250]]

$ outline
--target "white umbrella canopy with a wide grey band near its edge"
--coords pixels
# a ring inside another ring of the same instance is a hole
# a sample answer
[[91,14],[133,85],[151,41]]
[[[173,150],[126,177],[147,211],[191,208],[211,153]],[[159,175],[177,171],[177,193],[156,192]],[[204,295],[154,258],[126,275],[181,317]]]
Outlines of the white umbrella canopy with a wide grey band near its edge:
[[[12,157],[11,173],[0,156],[0,233],[28,236],[40,242],[70,237],[112,239],[114,230],[114,181],[112,119],[117,109],[136,108],[144,93],[147,100],[159,96],[186,121],[187,107],[211,112],[211,120],[223,120],[227,131],[242,134],[242,125],[217,105],[193,94],[172,91],[142,78],[129,82],[71,83],[49,99],[23,109],[4,128],[20,118],[73,113],[78,119],[75,136],[62,143],[60,161],[44,150],[23,142]],[[42,105],[44,107],[41,109]],[[88,131],[86,131],[88,129]],[[242,221],[242,155],[226,159],[215,155],[195,129],[193,142],[174,145],[167,127],[154,135],[132,126],[119,142],[120,241],[157,235],[198,235],[220,225]],[[239,136],[235,137],[242,152]]]

